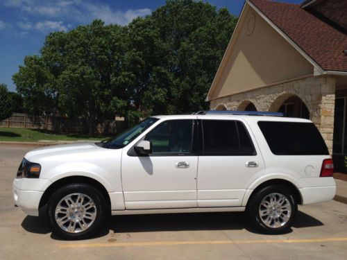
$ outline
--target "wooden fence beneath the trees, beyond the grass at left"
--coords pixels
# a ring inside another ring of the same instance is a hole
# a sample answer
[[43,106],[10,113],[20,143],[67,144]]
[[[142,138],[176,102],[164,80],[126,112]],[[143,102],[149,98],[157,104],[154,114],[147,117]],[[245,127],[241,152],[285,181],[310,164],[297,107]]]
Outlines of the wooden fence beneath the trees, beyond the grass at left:
[[[33,128],[54,132],[87,132],[88,125],[84,119],[71,119],[66,116],[37,116],[35,114],[13,113],[8,119],[0,121],[0,128]],[[105,131],[107,128],[108,131]],[[96,125],[96,133],[116,134],[124,131],[124,119],[116,117]]]

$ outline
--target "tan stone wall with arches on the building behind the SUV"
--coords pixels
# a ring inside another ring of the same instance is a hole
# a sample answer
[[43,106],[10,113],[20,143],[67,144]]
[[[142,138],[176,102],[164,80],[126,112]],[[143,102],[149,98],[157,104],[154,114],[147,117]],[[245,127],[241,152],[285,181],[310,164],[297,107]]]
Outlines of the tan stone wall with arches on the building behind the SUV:
[[310,120],[319,128],[332,154],[334,132],[335,78],[328,76],[307,77],[270,87],[251,90],[211,101],[212,110],[244,110],[253,103],[257,111],[277,112],[291,96],[298,96],[310,112]]

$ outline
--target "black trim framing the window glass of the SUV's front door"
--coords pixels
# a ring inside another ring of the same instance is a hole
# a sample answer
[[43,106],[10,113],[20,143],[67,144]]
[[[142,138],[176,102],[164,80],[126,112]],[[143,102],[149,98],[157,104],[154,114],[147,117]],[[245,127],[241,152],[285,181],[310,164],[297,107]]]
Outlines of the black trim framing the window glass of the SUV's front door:
[[[149,153],[148,155],[139,155],[135,152],[135,146],[140,142],[143,141],[147,135],[149,135],[153,130],[155,130],[155,128],[158,128],[159,125],[161,125],[162,123],[168,122],[168,121],[192,121],[192,143],[191,143],[191,148],[190,148],[190,153]],[[158,125],[155,125],[155,128],[153,128],[150,132],[146,133],[146,135],[144,135],[144,137],[142,137],[141,139],[139,139],[139,141],[137,141],[129,150],[127,155],[130,157],[187,157],[187,156],[197,156],[197,139],[195,137],[196,133],[195,133],[195,128],[197,127],[196,125],[196,119],[169,119],[169,120],[164,120],[161,123],[159,123]],[[196,141],[194,141],[196,139]],[[195,152],[194,152],[195,151]]]

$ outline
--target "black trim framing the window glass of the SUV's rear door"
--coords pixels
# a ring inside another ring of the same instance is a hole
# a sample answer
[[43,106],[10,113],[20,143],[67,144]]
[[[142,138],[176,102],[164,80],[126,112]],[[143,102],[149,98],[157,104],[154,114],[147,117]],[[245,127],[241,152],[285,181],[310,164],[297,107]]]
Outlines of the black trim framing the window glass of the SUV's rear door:
[[[205,150],[205,141],[204,141],[204,133],[203,133],[203,121],[232,121],[235,123],[235,128],[236,128],[236,132],[237,132],[237,141],[239,143],[239,153],[235,154],[235,153],[204,153]],[[249,139],[249,141],[251,142],[251,146],[253,149],[253,153],[241,153],[241,140],[240,140],[240,136],[239,136],[239,126],[237,125],[237,122],[241,123],[241,125],[244,127],[244,130],[246,131],[246,135]],[[251,135],[249,134],[248,129],[246,128],[246,125],[244,124],[244,122],[237,120],[237,119],[199,119],[198,120],[198,124],[200,125],[200,127],[198,128],[198,132],[200,135],[199,138],[201,140],[201,144],[202,147],[198,149],[198,155],[199,156],[256,156],[257,155],[257,150],[255,149],[254,143],[253,143],[253,139],[251,137]]]

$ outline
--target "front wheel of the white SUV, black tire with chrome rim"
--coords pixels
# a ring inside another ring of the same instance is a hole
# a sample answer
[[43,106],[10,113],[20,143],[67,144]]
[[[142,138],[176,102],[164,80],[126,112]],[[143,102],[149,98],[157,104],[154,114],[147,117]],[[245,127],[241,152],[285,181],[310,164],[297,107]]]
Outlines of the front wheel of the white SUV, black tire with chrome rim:
[[68,184],[49,199],[47,216],[53,233],[62,239],[86,239],[105,220],[105,198],[88,184]]

